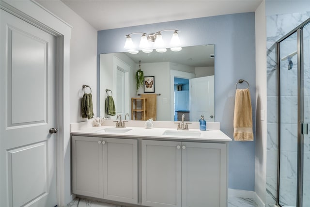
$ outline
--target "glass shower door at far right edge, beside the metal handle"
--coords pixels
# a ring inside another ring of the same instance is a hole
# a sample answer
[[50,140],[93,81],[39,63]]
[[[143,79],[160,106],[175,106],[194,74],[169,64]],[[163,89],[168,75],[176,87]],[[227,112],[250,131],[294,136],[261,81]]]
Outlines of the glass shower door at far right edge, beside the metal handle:
[[309,147],[309,134],[310,134],[310,24],[303,28],[303,55],[302,55],[302,91],[303,91],[303,110],[301,116],[301,122],[303,123],[303,138],[304,138],[304,150],[303,150],[303,185],[302,185],[302,206],[309,207],[310,205],[310,147]]

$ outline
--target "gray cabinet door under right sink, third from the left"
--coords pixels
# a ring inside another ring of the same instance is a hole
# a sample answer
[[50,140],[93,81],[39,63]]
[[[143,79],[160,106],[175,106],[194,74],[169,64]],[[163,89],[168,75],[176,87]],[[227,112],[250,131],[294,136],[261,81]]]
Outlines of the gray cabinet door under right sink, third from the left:
[[181,143],[141,141],[142,205],[181,207]]

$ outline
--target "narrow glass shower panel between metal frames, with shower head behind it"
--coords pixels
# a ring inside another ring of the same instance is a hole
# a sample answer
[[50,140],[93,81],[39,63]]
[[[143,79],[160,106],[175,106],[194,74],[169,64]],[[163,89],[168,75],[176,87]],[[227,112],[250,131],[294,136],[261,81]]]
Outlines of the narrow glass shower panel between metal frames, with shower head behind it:
[[298,70],[297,32],[279,43],[279,204],[296,206]]

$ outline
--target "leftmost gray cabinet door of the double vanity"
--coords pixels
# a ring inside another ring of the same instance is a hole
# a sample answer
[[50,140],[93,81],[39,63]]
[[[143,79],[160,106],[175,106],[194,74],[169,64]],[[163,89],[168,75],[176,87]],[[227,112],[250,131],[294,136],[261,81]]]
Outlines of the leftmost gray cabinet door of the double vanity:
[[75,194],[103,198],[101,139],[72,136],[72,192]]

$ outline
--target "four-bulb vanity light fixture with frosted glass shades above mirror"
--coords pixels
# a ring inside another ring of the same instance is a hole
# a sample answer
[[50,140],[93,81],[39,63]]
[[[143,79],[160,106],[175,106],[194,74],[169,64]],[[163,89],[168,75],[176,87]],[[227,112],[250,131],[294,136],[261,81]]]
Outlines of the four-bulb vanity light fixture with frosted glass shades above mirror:
[[[165,32],[165,31],[174,31],[172,34],[170,45],[168,46],[165,46],[165,42],[161,34],[161,32]],[[137,54],[139,50],[142,50],[142,52],[145,52],[145,53],[150,53],[153,51],[153,48],[155,48],[157,52],[166,52],[167,48],[170,48],[171,51],[177,52],[182,49],[178,32],[179,32],[178,30],[169,29],[169,30],[161,30],[161,31],[158,31],[152,34],[148,34],[145,32],[130,33],[125,36],[126,42],[125,42],[124,48],[127,50],[127,52],[131,54]],[[132,38],[130,35],[133,35],[133,34],[142,34],[141,39],[140,39],[139,49],[135,48],[135,45],[132,41]],[[152,45],[152,43],[154,44]]]

